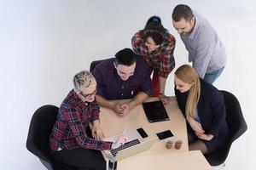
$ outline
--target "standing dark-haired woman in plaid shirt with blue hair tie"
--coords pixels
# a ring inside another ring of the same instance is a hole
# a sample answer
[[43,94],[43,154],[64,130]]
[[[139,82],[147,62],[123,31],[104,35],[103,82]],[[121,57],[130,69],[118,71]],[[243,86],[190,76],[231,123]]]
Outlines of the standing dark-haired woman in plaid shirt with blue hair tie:
[[151,71],[154,71],[153,96],[166,104],[169,99],[165,95],[166,79],[175,67],[175,37],[162,26],[159,16],[152,16],[144,29],[131,38],[131,45],[134,52],[145,59]]

